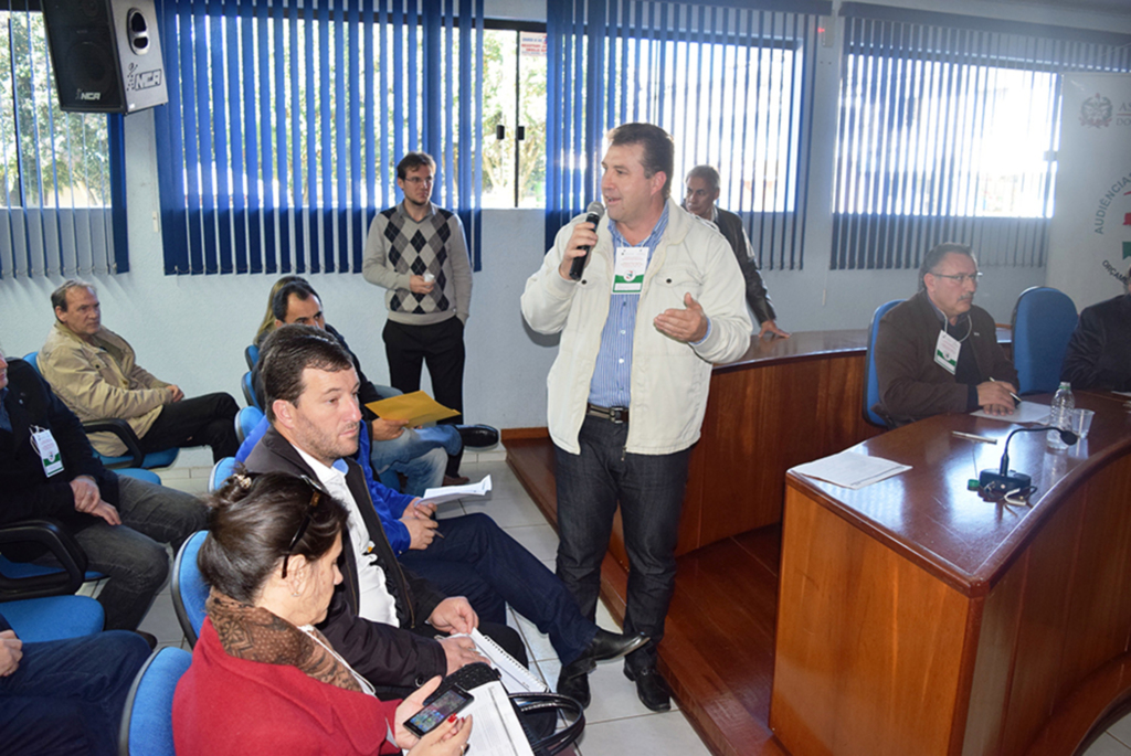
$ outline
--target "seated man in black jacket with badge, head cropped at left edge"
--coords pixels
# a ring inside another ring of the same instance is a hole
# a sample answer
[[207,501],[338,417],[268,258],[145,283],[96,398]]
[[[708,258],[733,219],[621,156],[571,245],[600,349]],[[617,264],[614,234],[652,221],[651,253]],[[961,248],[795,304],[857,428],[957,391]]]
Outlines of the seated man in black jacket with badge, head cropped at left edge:
[[[57,520],[89,568],[110,579],[98,594],[106,629],[137,629],[169,574],[163,544],[179,548],[205,527],[206,509],[189,494],[106,470],[35,370],[0,355],[0,523],[36,518]],[[6,555],[34,559],[42,549]]]

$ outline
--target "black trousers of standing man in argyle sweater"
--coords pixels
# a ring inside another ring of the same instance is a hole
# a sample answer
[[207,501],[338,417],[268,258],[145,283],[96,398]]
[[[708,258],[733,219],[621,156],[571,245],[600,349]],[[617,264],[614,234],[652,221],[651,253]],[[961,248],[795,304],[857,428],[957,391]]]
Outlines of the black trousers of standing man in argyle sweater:
[[[389,360],[389,383],[405,393],[420,391],[421,367],[428,363],[434,399],[460,414],[440,420],[459,425],[464,422],[464,323],[449,318],[431,325],[406,325],[386,321],[385,356]],[[448,455],[449,476],[459,475],[464,450]]]

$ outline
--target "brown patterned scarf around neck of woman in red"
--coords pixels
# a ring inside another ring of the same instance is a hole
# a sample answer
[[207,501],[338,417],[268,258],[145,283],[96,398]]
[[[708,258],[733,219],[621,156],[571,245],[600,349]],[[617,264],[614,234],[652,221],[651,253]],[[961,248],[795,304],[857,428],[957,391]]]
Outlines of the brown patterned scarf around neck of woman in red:
[[320,683],[361,693],[353,672],[325,646],[329,642],[317,629],[321,645],[310,635],[267,609],[241,603],[215,589],[205,611],[230,657],[265,664],[296,667]]

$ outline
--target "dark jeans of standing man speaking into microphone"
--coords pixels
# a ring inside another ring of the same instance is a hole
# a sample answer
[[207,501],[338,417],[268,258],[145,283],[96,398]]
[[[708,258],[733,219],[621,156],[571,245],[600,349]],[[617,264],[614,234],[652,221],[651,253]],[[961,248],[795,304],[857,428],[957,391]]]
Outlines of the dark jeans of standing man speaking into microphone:
[[625,454],[628,424],[586,417],[580,454],[555,447],[558,469],[558,576],[590,619],[601,592],[601,563],[608,549],[616,504],[629,556],[624,632],[651,643],[629,654],[634,669],[654,664],[664,618],[675,589],[675,542],[691,450]]

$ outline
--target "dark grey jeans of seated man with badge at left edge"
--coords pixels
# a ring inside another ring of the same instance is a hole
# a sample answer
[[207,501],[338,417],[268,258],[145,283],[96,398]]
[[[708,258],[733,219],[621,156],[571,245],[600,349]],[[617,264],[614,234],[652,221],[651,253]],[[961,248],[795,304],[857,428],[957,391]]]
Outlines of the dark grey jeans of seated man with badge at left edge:
[[121,525],[98,520],[75,533],[88,568],[110,580],[98,593],[106,629],[137,629],[169,576],[169,554],[207,525],[208,511],[196,496],[118,476]]

